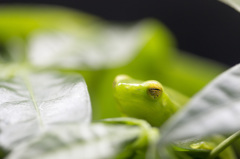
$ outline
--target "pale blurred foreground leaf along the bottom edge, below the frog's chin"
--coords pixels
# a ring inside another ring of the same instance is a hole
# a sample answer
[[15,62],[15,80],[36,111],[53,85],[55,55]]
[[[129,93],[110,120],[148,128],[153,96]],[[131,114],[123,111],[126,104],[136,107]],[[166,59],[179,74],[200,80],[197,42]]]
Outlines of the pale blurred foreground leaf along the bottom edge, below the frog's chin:
[[[148,146],[148,140],[145,145],[139,145],[139,141],[147,138],[141,124],[136,125],[136,121],[141,122],[129,118],[109,119],[105,124],[52,126],[30,142],[18,146],[7,158],[101,159],[132,158],[137,153],[144,155],[141,151],[143,146]],[[148,125],[144,121],[142,123]],[[150,130],[150,126],[147,127]]]

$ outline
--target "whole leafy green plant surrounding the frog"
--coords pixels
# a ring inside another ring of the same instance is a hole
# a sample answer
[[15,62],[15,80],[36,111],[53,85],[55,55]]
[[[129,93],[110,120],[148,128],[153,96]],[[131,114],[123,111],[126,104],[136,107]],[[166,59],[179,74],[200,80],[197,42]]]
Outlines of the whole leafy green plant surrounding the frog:
[[[3,6],[0,19],[0,158],[234,158],[223,150],[239,137],[239,65],[179,51],[153,19],[112,24],[53,6]],[[112,82],[123,73],[190,102],[160,128],[122,118]]]

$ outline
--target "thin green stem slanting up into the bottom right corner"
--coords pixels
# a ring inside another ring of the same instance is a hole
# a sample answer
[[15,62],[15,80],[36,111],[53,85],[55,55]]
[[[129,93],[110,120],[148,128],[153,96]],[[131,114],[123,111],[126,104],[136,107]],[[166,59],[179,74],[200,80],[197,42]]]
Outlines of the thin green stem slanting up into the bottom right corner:
[[233,135],[229,136],[226,140],[221,142],[217,147],[215,147],[209,154],[208,159],[216,158],[219,153],[221,153],[224,149],[230,146],[234,141],[240,138],[240,131],[237,131]]

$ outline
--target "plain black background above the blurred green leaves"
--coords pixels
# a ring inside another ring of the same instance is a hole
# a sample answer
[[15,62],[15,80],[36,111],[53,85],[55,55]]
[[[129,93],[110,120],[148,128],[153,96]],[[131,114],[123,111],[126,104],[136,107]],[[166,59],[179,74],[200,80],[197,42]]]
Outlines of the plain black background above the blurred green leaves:
[[6,3],[66,6],[118,22],[154,17],[173,32],[180,49],[229,66],[240,62],[240,13],[217,0],[0,0]]

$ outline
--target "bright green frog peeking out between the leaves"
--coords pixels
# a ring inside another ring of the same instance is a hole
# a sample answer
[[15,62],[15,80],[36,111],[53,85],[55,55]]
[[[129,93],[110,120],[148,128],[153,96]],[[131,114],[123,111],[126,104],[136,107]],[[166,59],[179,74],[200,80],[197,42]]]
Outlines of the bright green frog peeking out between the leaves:
[[158,81],[143,82],[127,75],[117,76],[113,88],[123,115],[145,119],[157,127],[188,101],[184,95],[170,88],[163,88]]

